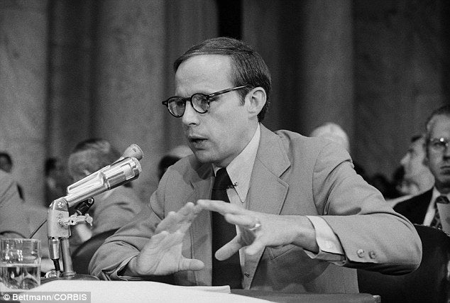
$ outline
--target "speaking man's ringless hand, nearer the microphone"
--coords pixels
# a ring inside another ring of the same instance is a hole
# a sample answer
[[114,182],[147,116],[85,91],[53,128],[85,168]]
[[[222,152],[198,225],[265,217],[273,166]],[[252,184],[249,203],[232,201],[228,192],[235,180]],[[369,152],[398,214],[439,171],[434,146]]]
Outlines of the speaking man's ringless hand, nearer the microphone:
[[139,255],[128,263],[138,275],[170,275],[180,270],[201,270],[204,263],[182,256],[182,241],[192,221],[202,209],[187,203],[179,211],[170,211],[158,224],[155,234]]

